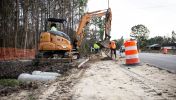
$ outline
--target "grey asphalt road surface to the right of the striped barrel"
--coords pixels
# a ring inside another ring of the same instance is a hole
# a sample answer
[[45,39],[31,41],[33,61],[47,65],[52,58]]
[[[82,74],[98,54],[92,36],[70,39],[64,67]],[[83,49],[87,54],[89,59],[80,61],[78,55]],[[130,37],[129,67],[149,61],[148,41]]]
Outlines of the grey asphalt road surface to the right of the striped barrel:
[[139,58],[141,62],[149,63],[161,69],[176,73],[176,55],[140,53]]

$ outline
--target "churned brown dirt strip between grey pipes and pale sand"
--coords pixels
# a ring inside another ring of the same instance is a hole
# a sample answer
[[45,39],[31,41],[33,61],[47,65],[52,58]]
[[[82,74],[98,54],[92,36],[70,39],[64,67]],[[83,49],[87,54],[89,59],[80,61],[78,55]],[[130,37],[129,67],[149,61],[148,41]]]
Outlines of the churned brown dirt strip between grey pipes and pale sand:
[[[53,66],[53,65],[52,65]],[[72,87],[78,82],[85,69],[70,66],[56,81],[30,83],[27,87],[3,96],[0,99],[13,100],[70,100],[72,98]],[[26,85],[25,85],[26,86]]]

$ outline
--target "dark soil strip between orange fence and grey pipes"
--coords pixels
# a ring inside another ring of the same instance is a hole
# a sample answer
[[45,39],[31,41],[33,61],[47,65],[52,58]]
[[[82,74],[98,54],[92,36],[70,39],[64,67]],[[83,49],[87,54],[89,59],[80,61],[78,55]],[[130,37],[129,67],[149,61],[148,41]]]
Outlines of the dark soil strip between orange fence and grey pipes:
[[0,62],[0,78],[1,79],[12,79],[18,78],[21,73],[32,73],[34,70],[40,71],[52,71],[63,74],[71,64],[61,63],[42,63],[39,65],[33,65],[32,61],[4,61]]

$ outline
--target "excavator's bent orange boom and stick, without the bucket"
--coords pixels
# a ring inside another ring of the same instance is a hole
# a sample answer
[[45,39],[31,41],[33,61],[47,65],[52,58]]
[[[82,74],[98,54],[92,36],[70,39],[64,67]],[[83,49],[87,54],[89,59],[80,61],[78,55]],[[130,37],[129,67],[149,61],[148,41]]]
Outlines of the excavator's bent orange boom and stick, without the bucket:
[[94,17],[105,16],[105,40],[110,39],[110,31],[111,31],[111,20],[112,20],[112,12],[111,9],[106,10],[98,10],[94,12],[85,13],[79,23],[77,32],[76,32],[76,41],[77,46],[80,47],[82,40],[84,38],[84,27],[89,23],[89,21]]

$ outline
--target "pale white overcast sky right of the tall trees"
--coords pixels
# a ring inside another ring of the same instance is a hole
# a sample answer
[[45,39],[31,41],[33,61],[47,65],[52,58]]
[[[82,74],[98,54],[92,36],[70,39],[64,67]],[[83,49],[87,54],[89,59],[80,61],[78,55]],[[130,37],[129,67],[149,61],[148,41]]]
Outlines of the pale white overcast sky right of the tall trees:
[[[88,0],[87,11],[108,8],[108,0]],[[176,0],[109,0],[112,10],[111,39],[130,38],[131,27],[143,24],[149,38],[171,37],[176,31]]]

